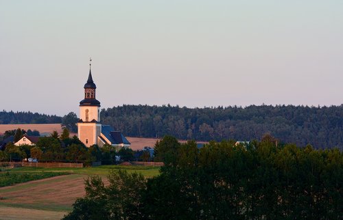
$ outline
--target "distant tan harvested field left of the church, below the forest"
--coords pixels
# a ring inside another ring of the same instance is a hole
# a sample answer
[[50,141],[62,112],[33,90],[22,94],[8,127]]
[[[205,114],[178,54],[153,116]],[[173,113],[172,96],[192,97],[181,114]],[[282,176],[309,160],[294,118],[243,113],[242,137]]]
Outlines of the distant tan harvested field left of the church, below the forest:
[[0,133],[5,133],[6,130],[14,130],[17,128],[38,130],[41,134],[52,133],[54,130],[59,134],[62,133],[62,124],[0,124]]

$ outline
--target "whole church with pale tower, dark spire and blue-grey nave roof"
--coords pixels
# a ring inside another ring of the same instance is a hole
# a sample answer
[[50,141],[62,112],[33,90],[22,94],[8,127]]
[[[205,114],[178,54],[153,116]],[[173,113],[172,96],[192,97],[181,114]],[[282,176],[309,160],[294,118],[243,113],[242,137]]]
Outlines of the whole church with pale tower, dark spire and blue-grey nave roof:
[[100,102],[95,98],[95,85],[89,64],[89,74],[84,84],[84,99],[80,102],[80,120],[78,121],[78,138],[86,147],[108,144],[115,147],[129,147],[130,142],[120,131],[100,123]]

